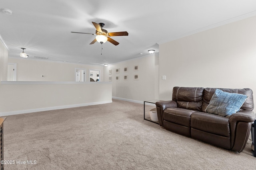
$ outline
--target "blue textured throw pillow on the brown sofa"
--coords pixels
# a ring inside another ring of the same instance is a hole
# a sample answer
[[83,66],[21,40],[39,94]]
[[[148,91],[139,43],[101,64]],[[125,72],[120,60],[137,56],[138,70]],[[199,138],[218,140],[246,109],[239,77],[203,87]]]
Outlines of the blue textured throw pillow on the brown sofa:
[[220,116],[232,115],[242,107],[247,98],[248,96],[244,94],[228,93],[216,89],[205,112]]

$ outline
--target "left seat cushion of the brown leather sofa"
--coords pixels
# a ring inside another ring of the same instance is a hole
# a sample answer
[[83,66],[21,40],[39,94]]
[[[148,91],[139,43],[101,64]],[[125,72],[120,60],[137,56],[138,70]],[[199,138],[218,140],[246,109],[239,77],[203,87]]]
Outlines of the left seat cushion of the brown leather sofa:
[[167,108],[164,110],[164,120],[178,125],[190,127],[190,115],[195,112],[183,108]]

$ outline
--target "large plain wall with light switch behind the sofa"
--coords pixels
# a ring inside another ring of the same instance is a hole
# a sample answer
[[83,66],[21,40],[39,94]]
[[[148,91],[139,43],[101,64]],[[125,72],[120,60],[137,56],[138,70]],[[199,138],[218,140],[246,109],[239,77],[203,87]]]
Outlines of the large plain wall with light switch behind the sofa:
[[172,88],[251,88],[256,92],[256,16],[160,44],[160,100]]

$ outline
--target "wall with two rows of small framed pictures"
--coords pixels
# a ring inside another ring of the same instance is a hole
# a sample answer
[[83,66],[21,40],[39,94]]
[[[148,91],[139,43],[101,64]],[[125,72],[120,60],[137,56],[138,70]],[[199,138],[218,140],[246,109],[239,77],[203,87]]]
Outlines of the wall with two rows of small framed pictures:
[[[106,66],[104,81],[112,82],[112,96],[133,102],[158,99],[158,60],[158,54],[152,54]],[[134,66],[138,66],[138,70],[134,70]],[[125,72],[124,68],[128,70]],[[116,73],[116,69],[119,69],[119,73]],[[111,74],[109,70],[112,70]],[[138,80],[134,78],[135,75],[138,75]],[[127,76],[127,80],[124,76]]]

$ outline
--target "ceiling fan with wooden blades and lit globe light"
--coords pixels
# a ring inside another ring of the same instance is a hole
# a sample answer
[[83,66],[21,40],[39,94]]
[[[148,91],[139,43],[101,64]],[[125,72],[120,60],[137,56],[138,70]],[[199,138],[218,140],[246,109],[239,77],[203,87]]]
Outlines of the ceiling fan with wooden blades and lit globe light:
[[[82,34],[97,35],[96,38],[90,44],[94,44],[96,41],[103,44],[106,41],[108,41],[108,42],[110,42],[114,45],[118,45],[119,43],[117,41],[115,41],[114,39],[110,38],[110,37],[112,37],[112,36],[128,36],[127,31],[108,33],[108,31],[106,29],[102,29],[102,27],[104,27],[104,25],[105,25],[104,23],[92,22],[92,24],[96,28],[96,33],[95,34],[94,33],[82,33]],[[72,32],[72,33],[80,33],[80,32]]]

